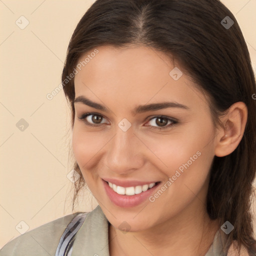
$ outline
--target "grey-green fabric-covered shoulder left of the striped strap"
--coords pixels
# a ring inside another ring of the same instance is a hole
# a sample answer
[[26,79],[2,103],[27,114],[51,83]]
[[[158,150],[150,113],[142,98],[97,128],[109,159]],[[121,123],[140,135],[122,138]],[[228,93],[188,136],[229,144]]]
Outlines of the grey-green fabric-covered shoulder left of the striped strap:
[[78,213],[65,215],[19,235],[0,249],[0,256],[54,255],[62,233]]

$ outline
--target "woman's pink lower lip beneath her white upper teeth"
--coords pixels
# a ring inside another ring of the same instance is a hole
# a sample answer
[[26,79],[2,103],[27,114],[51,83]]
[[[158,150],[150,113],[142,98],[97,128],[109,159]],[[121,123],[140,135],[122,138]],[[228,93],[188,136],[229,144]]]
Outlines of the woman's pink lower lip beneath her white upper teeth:
[[154,192],[154,190],[159,186],[160,182],[156,184],[155,186],[151,187],[150,189],[147,189],[144,192],[141,192],[140,194],[134,194],[134,195],[126,195],[126,194],[118,194],[116,193],[106,181],[102,179],[103,186],[105,188],[106,194],[110,198],[110,200],[120,207],[133,207],[137,206],[143,201],[145,201],[149,196]]

